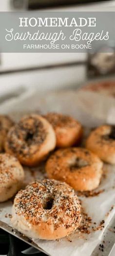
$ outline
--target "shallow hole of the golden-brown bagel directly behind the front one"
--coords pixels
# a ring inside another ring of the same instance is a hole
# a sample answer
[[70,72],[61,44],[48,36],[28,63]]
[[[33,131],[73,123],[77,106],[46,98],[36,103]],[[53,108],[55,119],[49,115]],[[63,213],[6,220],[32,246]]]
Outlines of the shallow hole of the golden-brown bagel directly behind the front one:
[[75,169],[80,169],[88,166],[88,162],[80,157],[77,157],[75,161],[70,165],[70,171],[76,171]]

